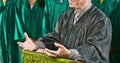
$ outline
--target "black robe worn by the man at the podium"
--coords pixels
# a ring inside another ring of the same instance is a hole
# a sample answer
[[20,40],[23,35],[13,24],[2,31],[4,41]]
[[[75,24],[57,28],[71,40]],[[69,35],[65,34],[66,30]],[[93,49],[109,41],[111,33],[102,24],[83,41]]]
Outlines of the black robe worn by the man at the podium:
[[91,6],[77,21],[74,10],[64,12],[58,19],[53,33],[41,37],[49,49],[55,49],[54,42],[68,49],[76,49],[85,63],[109,63],[109,48],[112,27],[109,18],[95,6]]

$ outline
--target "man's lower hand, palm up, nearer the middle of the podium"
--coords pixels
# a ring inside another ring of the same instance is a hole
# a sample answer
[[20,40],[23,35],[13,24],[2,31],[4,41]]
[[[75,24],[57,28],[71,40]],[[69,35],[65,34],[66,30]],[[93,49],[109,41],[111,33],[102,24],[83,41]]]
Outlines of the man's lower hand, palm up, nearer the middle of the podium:
[[65,48],[63,45],[55,43],[55,46],[58,47],[57,51],[45,49],[44,54],[51,57],[61,57],[61,58],[68,58],[68,56],[71,54],[70,50]]

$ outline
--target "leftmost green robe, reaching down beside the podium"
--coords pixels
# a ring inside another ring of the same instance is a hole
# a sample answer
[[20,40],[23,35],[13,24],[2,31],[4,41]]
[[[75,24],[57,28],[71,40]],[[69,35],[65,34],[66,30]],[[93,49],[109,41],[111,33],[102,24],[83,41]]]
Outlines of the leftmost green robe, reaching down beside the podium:
[[19,61],[17,54],[18,46],[14,41],[15,1],[7,0],[6,5],[2,5],[2,11],[0,8],[2,63],[18,63]]

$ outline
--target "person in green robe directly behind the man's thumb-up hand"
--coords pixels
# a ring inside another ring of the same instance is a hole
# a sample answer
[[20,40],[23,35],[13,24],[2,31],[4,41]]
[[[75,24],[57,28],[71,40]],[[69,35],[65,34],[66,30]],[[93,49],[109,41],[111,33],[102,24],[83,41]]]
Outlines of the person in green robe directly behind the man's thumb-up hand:
[[[29,33],[30,37],[34,39],[43,36],[43,7],[43,0],[17,0],[15,6],[15,41],[23,41],[25,39],[23,35],[24,32]],[[20,49],[19,47],[17,49],[19,63],[22,62]]]

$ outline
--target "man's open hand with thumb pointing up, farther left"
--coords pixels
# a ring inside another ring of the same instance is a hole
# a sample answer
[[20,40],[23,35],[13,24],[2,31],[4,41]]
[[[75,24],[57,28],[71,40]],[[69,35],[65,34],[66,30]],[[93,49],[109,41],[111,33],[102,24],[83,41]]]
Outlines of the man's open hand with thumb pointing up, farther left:
[[24,42],[17,42],[17,44],[24,50],[33,51],[37,49],[37,46],[34,44],[33,40],[28,37],[26,32],[24,33],[24,36],[26,40]]

